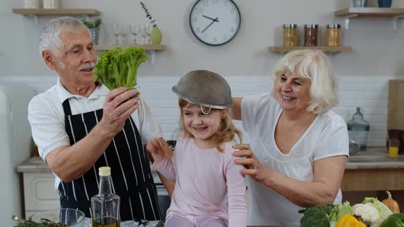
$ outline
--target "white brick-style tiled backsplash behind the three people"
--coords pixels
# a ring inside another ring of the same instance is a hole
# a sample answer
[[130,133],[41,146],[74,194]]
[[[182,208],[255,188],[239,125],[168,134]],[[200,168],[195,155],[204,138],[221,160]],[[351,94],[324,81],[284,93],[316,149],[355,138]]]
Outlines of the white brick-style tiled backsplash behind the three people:
[[[233,96],[246,96],[268,92],[269,77],[226,77]],[[344,120],[350,120],[356,107],[361,107],[365,120],[370,122],[368,146],[383,146],[387,131],[388,80],[392,77],[338,77],[340,105],[334,111]],[[165,139],[175,139],[179,119],[177,96],[171,87],[179,77],[138,77],[140,92],[160,123]],[[0,77],[0,83],[11,81],[29,83],[36,93],[44,92],[56,77]],[[240,122],[236,126],[242,129]],[[244,142],[248,142],[244,134]]]

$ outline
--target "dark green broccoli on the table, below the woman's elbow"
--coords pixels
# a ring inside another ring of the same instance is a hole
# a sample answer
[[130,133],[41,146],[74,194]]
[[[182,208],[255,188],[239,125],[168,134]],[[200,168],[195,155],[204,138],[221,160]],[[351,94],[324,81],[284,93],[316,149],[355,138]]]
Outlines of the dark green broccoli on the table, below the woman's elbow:
[[327,206],[316,205],[299,211],[299,213],[303,213],[303,217],[300,219],[301,227],[329,227],[327,215],[333,207],[332,204]]

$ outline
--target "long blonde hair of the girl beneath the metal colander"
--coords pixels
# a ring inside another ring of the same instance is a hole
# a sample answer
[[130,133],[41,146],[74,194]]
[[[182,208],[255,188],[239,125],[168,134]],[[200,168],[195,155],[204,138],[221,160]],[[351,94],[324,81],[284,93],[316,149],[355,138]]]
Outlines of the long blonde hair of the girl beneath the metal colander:
[[[190,107],[192,103],[189,103],[188,101],[185,101],[182,98],[179,98],[178,100],[178,105],[179,105],[179,110],[180,110],[180,118],[179,118],[179,131],[183,131],[188,135],[189,137],[193,138],[194,136],[190,131],[188,131],[184,125],[184,115],[182,114],[182,111],[184,107]],[[199,105],[196,105],[199,107]],[[203,107],[203,111],[207,111],[206,107]],[[230,141],[236,141],[235,137],[236,135],[238,136],[238,139],[240,139],[240,143],[242,142],[242,133],[234,126],[233,122],[231,121],[231,111],[230,109],[217,109],[221,112],[224,113],[224,117],[220,120],[220,125],[219,129],[216,133],[214,133],[214,144],[216,146],[216,149],[218,149],[220,152],[223,152],[223,146],[221,144],[225,142],[230,142]]]

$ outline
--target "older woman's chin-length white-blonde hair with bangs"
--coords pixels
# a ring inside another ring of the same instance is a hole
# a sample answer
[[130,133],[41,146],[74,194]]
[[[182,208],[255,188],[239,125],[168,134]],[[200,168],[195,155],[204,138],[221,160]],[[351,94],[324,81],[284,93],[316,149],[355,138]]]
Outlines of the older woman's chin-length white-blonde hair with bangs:
[[286,72],[308,79],[310,86],[310,105],[307,111],[319,114],[338,105],[337,83],[333,67],[325,53],[305,49],[291,51],[279,60],[273,77],[271,95],[276,98],[276,85],[281,75]]

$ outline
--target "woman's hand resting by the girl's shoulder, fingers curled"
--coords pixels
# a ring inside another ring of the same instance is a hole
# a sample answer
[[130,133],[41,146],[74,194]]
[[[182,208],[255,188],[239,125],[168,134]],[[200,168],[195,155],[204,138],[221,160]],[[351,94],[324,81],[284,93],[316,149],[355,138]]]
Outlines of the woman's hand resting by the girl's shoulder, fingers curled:
[[238,165],[244,165],[245,170],[241,170],[241,174],[249,175],[254,181],[264,183],[268,179],[270,170],[266,168],[260,160],[253,154],[249,144],[237,144],[233,146],[238,151],[233,152],[234,157],[242,157],[234,162]]

